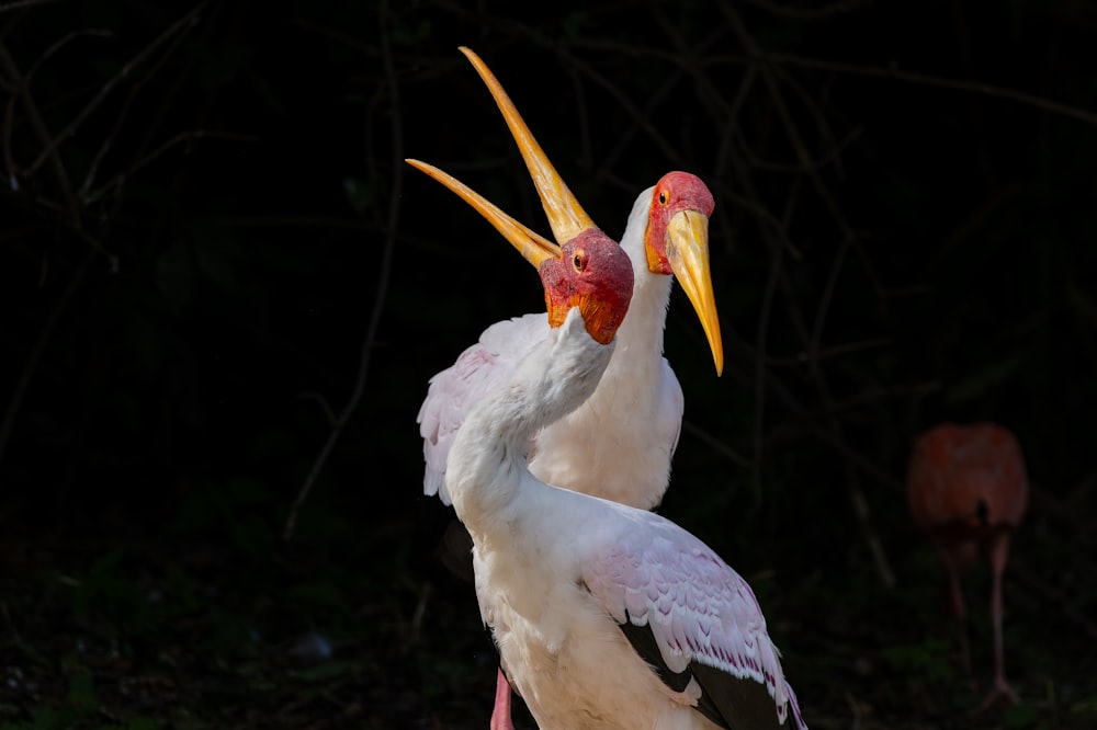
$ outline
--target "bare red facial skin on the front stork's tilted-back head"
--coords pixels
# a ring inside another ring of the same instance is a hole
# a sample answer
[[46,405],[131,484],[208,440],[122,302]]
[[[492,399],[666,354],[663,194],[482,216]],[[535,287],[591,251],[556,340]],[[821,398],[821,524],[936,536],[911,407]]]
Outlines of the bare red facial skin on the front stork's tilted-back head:
[[613,340],[629,311],[633,285],[632,263],[617,241],[588,228],[562,247],[559,259],[546,259],[540,274],[552,327],[579,307],[591,338],[601,344]]

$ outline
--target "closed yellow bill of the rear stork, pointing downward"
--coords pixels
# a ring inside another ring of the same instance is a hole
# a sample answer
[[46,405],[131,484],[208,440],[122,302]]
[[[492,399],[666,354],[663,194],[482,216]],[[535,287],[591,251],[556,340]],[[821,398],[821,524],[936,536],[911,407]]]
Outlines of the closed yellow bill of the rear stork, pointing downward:
[[724,372],[724,344],[720,339],[716,297],[709,271],[709,218],[697,210],[680,210],[667,224],[667,260],[701,318],[701,329],[709,338],[719,376]]

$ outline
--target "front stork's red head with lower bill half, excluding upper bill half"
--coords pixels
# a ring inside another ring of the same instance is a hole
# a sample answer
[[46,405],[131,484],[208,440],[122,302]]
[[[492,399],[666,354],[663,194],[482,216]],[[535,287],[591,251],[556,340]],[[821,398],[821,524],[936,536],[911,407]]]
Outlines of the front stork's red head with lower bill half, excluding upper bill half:
[[[536,267],[545,290],[550,326],[559,327],[568,310],[578,307],[587,333],[595,341],[608,344],[613,340],[629,311],[633,286],[632,262],[617,241],[591,225],[557,246],[511,218],[456,178],[419,160],[407,162],[473,206]],[[561,204],[561,209],[573,214],[566,203]]]

